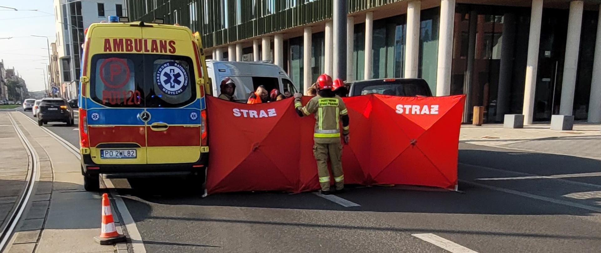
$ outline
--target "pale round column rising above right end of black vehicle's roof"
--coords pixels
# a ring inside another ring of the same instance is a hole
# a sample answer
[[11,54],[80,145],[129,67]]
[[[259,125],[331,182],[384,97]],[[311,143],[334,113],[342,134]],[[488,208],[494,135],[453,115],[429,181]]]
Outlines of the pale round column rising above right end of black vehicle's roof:
[[421,1],[407,4],[407,37],[405,38],[405,78],[417,78],[419,59],[419,12]]

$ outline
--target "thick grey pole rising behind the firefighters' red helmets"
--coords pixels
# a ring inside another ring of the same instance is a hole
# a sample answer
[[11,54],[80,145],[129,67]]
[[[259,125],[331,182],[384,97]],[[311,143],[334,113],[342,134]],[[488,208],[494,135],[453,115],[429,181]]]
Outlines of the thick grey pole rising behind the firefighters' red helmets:
[[[332,78],[348,79],[347,73],[347,8],[348,0],[334,0],[334,8],[332,8],[332,21],[334,22],[334,72]],[[352,41],[352,37],[351,37]],[[351,44],[352,45],[352,44]],[[352,50],[353,47],[351,46]]]

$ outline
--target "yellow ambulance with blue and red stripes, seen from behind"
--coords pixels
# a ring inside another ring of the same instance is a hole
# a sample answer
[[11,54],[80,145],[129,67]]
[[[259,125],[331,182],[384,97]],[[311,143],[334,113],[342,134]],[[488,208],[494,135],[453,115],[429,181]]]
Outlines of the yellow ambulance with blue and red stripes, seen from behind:
[[160,21],[111,16],[85,32],[79,144],[87,191],[99,189],[99,174],[206,175],[211,88],[200,35]]

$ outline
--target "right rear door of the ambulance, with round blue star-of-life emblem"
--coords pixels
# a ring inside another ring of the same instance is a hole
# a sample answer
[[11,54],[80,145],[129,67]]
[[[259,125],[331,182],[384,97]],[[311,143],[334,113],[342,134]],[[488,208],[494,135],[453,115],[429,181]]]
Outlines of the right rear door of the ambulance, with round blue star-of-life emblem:
[[[142,28],[142,35],[150,48],[144,53],[148,164],[197,162],[204,91],[197,86],[192,38],[183,29],[168,28]],[[152,50],[155,41],[158,52]]]

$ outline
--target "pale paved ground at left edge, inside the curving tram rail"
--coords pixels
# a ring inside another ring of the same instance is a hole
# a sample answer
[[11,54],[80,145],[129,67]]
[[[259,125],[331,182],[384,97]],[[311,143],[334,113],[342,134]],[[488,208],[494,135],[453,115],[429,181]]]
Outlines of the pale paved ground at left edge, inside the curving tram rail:
[[25,189],[29,170],[28,155],[11,124],[8,114],[0,112],[0,229],[7,224],[9,213],[14,209]]

